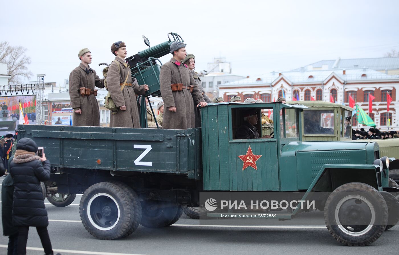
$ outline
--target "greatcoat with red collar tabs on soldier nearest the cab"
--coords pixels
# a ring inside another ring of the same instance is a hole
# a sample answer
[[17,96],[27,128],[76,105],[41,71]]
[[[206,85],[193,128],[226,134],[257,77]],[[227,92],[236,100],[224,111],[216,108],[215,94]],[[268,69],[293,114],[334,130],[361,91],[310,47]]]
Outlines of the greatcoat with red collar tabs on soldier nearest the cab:
[[[172,57],[161,67],[159,75],[162,100],[164,101],[164,118],[162,128],[187,129],[196,126],[194,103],[205,102],[194,77],[186,65]],[[189,89],[172,92],[171,84],[183,83],[183,86],[194,86],[193,92]],[[176,112],[168,107],[175,106]]]

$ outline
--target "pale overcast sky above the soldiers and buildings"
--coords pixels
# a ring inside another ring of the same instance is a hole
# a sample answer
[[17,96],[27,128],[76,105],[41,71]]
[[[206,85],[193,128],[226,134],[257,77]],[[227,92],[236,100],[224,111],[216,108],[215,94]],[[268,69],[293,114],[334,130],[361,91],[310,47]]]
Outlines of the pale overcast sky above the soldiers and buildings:
[[197,71],[221,56],[244,76],[399,49],[399,1],[7,0],[1,6],[0,41],[28,49],[31,81],[44,73],[45,82],[63,83],[84,47],[102,78],[98,63],[114,59],[113,42],[126,42],[130,56],[147,48],[142,35],[156,45],[168,32],[182,36]]

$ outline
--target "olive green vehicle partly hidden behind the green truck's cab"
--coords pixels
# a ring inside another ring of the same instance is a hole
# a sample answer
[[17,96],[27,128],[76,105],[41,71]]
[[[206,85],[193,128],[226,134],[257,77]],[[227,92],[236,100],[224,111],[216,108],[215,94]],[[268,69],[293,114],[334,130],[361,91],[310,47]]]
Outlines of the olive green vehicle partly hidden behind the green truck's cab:
[[[352,116],[351,107],[324,101],[287,101],[288,104],[307,106],[308,110],[301,113],[300,118],[304,123],[304,141],[351,141],[351,142],[377,142],[380,156],[395,158],[389,165],[389,178],[399,183],[399,138],[378,140],[352,140],[352,121],[346,119]],[[310,120],[312,119],[312,120]],[[306,128],[306,123],[315,120],[321,128]]]

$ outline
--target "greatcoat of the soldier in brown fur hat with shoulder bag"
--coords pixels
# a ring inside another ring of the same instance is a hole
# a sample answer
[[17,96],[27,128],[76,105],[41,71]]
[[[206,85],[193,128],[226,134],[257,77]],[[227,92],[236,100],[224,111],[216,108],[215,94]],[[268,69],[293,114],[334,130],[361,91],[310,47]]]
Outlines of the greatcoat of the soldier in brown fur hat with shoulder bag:
[[[118,63],[120,72],[118,69]],[[120,91],[120,83],[124,83],[126,75],[128,76],[126,84],[132,83],[132,86],[126,85],[123,90]],[[139,86],[137,84],[136,79],[133,81],[130,66],[119,57],[115,57],[115,61],[113,61],[108,68],[107,87],[111,98],[117,107],[126,105],[125,111],[119,109],[117,113],[111,113],[109,126],[140,128],[136,94],[144,95],[145,89],[144,86]]]

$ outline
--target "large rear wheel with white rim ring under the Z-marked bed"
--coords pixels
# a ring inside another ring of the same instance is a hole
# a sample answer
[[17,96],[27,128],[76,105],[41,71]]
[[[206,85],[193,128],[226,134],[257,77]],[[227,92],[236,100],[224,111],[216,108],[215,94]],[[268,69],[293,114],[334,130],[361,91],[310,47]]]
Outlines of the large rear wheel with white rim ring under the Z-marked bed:
[[103,240],[133,233],[140,224],[141,213],[136,192],[122,182],[99,182],[90,186],[79,204],[85,229]]

